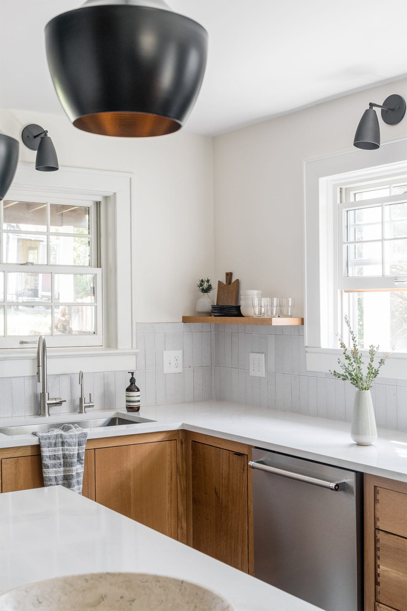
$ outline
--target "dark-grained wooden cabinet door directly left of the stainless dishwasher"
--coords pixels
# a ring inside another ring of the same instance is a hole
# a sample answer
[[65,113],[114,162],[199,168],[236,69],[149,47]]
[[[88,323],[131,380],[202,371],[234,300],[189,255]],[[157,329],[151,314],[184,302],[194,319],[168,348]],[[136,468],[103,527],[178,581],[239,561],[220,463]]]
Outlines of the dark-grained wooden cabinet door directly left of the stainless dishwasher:
[[247,573],[247,455],[191,444],[192,547]]

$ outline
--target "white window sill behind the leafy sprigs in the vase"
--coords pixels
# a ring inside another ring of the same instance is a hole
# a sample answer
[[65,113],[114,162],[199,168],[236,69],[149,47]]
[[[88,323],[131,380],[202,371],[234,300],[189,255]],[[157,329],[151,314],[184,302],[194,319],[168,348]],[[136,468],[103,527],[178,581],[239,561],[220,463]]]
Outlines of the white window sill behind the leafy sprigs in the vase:
[[[338,371],[338,358],[343,355],[342,348],[310,348],[306,347],[306,364],[307,371],[325,371],[336,369]],[[365,365],[368,362],[366,357],[369,357],[367,350],[360,350],[364,356]],[[378,362],[378,357],[381,357],[383,352],[378,352],[375,357],[375,364]],[[407,379],[407,353],[395,352],[386,361],[386,364],[380,368],[379,378]]]

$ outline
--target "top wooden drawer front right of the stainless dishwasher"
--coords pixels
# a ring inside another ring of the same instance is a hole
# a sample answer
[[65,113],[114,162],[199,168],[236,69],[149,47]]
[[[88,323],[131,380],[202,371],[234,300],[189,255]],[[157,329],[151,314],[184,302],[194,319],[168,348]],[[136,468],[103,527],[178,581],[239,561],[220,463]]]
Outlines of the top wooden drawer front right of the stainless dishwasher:
[[407,537],[407,494],[375,486],[375,527]]

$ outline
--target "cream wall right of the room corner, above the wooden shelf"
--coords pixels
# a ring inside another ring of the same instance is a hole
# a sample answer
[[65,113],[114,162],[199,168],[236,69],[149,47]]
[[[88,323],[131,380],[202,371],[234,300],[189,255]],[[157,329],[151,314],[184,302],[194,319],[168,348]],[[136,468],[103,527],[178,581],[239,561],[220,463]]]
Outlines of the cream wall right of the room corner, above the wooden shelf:
[[[406,95],[406,81],[354,93],[214,137],[215,279],[295,297],[303,316],[302,160],[351,148],[369,102]],[[278,95],[278,92],[276,92]],[[380,118],[381,139],[402,136]]]

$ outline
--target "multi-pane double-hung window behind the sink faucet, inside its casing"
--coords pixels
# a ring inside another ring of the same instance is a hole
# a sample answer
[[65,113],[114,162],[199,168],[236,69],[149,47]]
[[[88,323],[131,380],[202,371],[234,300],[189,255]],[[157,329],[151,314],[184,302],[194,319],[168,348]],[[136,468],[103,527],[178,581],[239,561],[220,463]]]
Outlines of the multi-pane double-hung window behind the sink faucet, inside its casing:
[[41,334],[50,347],[103,345],[98,208],[54,194],[0,202],[3,348]]

